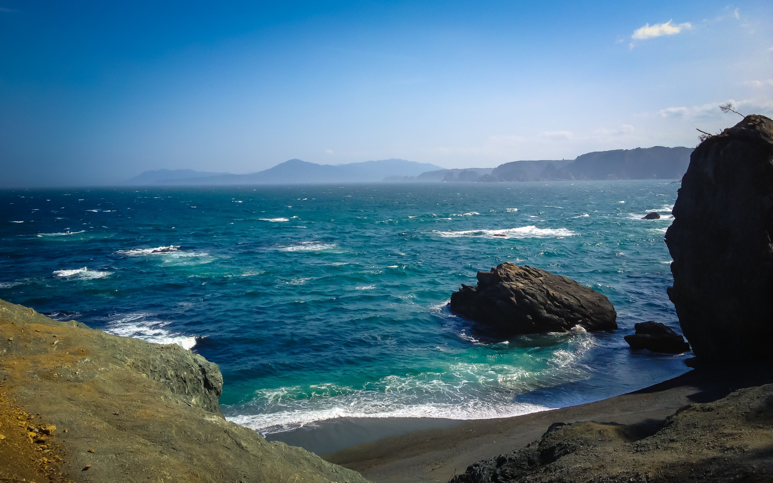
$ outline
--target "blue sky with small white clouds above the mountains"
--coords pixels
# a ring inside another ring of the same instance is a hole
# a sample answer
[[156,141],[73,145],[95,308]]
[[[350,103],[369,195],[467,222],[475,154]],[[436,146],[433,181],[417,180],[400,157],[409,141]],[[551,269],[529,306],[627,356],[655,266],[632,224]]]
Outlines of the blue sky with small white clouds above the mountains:
[[773,2],[0,0],[0,187],[444,168],[773,117]]

